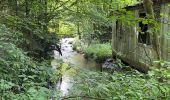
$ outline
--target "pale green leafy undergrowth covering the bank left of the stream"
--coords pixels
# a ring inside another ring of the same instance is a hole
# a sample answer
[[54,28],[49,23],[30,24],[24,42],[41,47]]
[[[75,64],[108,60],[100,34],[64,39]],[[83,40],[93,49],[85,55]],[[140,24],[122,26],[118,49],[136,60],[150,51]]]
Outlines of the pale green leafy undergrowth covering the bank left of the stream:
[[[49,61],[37,62],[26,55],[18,42],[23,38],[0,25],[0,95],[2,100],[46,100],[51,95],[46,78]],[[51,73],[52,74],[52,73]],[[42,99],[43,98],[43,99]]]

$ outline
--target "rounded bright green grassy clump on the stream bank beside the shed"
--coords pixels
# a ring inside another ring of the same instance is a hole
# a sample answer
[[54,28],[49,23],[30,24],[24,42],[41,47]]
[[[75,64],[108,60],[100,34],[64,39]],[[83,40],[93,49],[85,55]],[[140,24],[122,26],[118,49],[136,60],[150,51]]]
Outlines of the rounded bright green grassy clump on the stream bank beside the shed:
[[93,58],[97,62],[103,62],[107,58],[112,57],[111,45],[109,43],[105,44],[92,44],[84,50],[85,57]]

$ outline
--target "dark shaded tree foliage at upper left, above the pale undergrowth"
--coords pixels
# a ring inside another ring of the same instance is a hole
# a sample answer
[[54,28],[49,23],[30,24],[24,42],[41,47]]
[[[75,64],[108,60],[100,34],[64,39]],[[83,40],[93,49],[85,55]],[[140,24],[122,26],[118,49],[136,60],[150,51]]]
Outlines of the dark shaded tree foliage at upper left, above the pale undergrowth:
[[56,34],[48,32],[49,21],[54,18],[51,15],[54,7],[48,10],[52,2],[54,4],[51,0],[5,0],[0,5],[3,8],[0,10],[1,24],[5,24],[12,33],[21,33],[22,42],[17,46],[28,52],[29,56],[43,58],[45,47],[58,42]]

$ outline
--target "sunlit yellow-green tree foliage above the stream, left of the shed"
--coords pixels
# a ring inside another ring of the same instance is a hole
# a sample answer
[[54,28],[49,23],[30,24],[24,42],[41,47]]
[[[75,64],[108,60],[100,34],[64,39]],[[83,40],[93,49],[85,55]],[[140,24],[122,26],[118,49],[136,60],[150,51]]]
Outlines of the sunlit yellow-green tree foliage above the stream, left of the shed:
[[[81,36],[86,42],[90,42],[93,39],[108,42],[108,40],[111,39],[113,21],[121,19],[128,21],[129,25],[132,25],[132,16],[128,16],[130,15],[128,11],[125,9],[122,10],[122,8],[136,3],[138,3],[137,0],[77,1],[76,4],[66,12],[68,15],[66,21],[74,23],[75,26],[79,23]],[[76,28],[78,30],[78,25]]]

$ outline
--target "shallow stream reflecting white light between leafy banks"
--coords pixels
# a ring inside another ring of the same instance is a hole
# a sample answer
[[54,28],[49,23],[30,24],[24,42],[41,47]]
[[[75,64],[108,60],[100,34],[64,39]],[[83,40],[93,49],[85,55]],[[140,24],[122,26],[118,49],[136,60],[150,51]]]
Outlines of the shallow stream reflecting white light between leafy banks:
[[[62,56],[58,51],[54,51],[54,60],[51,62],[52,69],[56,69],[59,60],[69,63],[74,67],[85,68],[88,70],[100,71],[101,64],[97,64],[94,60],[87,60],[83,54],[73,50],[74,38],[63,38],[60,40]],[[61,95],[66,96],[69,89],[74,84],[73,77],[63,74],[62,81],[57,83],[57,88],[61,90]]]

